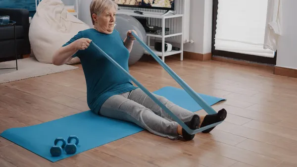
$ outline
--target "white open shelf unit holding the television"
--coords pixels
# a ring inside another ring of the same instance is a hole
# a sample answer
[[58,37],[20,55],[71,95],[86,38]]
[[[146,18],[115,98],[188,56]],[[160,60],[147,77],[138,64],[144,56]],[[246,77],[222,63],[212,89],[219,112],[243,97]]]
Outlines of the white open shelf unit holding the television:
[[[147,33],[147,43],[149,48],[157,55],[162,57],[162,61],[165,62],[165,57],[166,56],[171,56],[171,55],[175,55],[175,54],[180,54],[180,60],[183,60],[183,50],[184,50],[184,42],[183,42],[183,35],[184,35],[184,15],[183,14],[172,14],[169,13],[167,15],[162,16],[163,13],[159,13],[159,12],[152,12],[152,11],[142,11],[143,14],[138,14],[134,12],[135,10],[129,10],[129,9],[119,9],[117,11],[118,14],[127,14],[130,16],[139,16],[139,17],[150,17],[150,18],[159,18],[162,21],[162,35],[156,35],[156,34],[149,34]],[[182,23],[180,26],[182,26],[181,28],[181,32],[170,32],[169,30],[169,34],[165,35],[165,19],[170,19],[170,18],[176,18],[176,17],[181,17],[182,18]],[[170,52],[165,52],[164,51],[164,46],[165,46],[165,38],[169,38],[169,37],[174,37],[174,36],[181,36],[181,41],[180,41],[180,50],[179,51],[170,51]],[[155,37],[155,38],[161,38],[162,39],[162,52],[158,52],[154,49],[154,46],[150,46],[150,37]],[[147,50],[145,50],[145,53],[150,55],[148,53]]]

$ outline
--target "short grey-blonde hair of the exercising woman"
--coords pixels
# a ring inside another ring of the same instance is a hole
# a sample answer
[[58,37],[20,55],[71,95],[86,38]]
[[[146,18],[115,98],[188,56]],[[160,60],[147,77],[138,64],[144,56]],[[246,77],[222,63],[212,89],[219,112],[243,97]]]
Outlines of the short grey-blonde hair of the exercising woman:
[[92,14],[95,13],[99,15],[102,11],[111,7],[114,7],[116,10],[118,8],[118,5],[114,2],[114,0],[92,0],[90,3],[90,13],[93,25],[95,22],[93,20]]

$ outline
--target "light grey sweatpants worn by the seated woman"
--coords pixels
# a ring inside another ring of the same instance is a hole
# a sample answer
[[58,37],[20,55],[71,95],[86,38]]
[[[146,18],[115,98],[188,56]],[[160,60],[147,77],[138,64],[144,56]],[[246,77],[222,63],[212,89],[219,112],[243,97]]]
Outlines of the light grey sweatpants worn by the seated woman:
[[[190,121],[196,114],[173,104],[162,96],[153,95],[183,122]],[[178,123],[140,88],[110,97],[102,105],[99,114],[134,122],[153,134],[169,139],[180,137],[177,133]]]

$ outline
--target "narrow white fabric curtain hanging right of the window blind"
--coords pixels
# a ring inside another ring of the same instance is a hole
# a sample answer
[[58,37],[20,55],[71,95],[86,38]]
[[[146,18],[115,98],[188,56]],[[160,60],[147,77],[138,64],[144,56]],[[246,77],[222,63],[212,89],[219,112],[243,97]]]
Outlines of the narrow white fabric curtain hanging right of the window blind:
[[277,50],[281,35],[282,1],[268,0],[264,49]]

